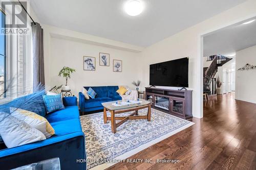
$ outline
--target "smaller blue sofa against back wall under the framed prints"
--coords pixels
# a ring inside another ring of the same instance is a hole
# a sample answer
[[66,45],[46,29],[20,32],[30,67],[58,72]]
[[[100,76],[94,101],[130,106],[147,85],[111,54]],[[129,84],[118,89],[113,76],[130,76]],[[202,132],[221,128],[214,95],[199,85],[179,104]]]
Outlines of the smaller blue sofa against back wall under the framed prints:
[[[79,107],[81,112],[90,112],[102,110],[101,103],[122,100],[121,96],[116,92],[118,86],[90,86],[96,93],[95,99],[86,100],[82,92],[79,92]],[[88,90],[90,87],[83,87]]]

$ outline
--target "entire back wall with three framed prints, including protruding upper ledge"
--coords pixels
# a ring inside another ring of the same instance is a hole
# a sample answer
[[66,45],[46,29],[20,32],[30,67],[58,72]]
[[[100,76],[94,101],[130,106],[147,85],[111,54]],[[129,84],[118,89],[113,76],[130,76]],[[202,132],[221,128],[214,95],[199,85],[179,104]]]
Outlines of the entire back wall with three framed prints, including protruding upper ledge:
[[[43,25],[46,89],[65,85],[58,77],[63,66],[76,69],[68,85],[78,96],[83,86],[127,85],[138,80],[139,52],[144,48],[71,30]],[[110,54],[110,66],[99,66],[99,53]],[[96,70],[83,70],[83,56],[96,58]],[[122,72],[113,72],[113,59],[122,60]]]

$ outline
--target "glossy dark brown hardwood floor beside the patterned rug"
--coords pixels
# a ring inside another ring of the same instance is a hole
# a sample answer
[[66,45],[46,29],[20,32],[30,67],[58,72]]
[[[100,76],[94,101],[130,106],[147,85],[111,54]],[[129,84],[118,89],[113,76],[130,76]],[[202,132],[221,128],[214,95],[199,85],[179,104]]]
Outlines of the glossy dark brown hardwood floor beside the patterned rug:
[[256,169],[256,104],[234,93],[204,103],[204,118],[129,159],[179,159],[179,163],[118,163],[108,169]]

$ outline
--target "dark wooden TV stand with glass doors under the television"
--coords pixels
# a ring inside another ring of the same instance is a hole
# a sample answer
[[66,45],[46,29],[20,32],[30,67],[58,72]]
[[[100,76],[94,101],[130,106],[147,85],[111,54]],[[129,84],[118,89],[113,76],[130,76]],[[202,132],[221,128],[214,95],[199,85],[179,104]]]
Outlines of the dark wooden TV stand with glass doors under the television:
[[192,90],[171,90],[145,87],[145,99],[153,102],[152,108],[183,119],[192,115]]

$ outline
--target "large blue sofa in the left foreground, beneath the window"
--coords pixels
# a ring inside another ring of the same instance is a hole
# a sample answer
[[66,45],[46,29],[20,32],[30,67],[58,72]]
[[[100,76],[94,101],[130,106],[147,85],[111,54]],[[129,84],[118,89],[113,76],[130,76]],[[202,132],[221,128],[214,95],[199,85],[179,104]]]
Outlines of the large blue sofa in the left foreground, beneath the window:
[[85,139],[82,132],[76,97],[63,98],[65,109],[46,115],[42,93],[37,92],[0,106],[0,111],[9,112],[10,107],[33,111],[47,118],[55,130],[55,135],[46,140],[6,148],[0,144],[0,169],[11,169],[34,162],[56,158],[61,169],[86,169]]

